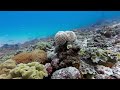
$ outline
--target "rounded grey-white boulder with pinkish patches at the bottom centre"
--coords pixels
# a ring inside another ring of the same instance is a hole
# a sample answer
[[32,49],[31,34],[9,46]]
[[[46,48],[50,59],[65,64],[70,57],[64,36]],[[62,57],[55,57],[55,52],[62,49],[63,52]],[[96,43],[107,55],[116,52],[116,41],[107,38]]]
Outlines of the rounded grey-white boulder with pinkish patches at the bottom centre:
[[80,79],[81,74],[75,67],[67,67],[55,71],[51,79]]

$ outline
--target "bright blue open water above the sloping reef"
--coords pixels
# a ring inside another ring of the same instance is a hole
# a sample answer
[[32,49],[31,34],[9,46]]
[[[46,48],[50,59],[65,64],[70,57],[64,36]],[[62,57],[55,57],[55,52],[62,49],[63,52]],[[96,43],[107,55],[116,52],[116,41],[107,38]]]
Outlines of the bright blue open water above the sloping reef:
[[54,35],[60,30],[86,27],[120,11],[0,11],[0,46]]

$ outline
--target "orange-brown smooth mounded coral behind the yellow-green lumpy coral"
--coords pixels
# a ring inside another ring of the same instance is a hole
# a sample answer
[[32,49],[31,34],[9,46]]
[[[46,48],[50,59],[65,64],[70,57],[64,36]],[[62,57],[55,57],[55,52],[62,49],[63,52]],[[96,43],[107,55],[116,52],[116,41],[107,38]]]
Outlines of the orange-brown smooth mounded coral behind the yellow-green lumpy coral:
[[30,53],[23,52],[12,58],[19,63],[29,63],[33,61],[37,61],[40,63],[44,63],[47,60],[47,53],[43,50],[34,50]]

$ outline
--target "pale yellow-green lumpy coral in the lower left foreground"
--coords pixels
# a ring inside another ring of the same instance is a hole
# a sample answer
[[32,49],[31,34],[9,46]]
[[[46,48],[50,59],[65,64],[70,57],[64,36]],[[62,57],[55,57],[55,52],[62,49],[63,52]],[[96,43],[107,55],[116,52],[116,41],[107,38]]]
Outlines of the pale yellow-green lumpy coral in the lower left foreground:
[[28,64],[18,64],[16,68],[10,71],[8,75],[11,78],[22,79],[43,79],[48,76],[45,66],[38,62],[31,62]]

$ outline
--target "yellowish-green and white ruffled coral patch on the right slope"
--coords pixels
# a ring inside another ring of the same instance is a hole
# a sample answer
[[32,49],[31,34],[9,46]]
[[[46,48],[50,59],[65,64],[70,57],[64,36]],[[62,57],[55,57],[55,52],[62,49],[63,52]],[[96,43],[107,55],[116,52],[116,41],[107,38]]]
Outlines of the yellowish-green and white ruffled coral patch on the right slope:
[[79,55],[86,57],[95,64],[104,64],[106,66],[112,66],[115,64],[119,59],[118,54],[112,52],[111,50],[104,50],[100,48],[88,48],[86,50],[81,50]]

